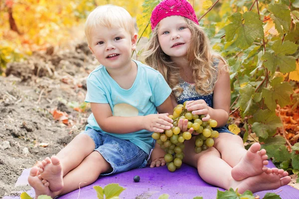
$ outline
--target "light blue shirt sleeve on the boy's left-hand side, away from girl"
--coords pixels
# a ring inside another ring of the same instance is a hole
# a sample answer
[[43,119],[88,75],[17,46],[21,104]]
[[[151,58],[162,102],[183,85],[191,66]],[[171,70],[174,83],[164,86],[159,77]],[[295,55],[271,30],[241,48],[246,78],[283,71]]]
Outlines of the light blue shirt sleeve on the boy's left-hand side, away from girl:
[[85,97],[85,102],[94,103],[108,103],[106,93],[103,88],[101,88],[100,82],[95,82],[88,78],[86,80],[87,94]]

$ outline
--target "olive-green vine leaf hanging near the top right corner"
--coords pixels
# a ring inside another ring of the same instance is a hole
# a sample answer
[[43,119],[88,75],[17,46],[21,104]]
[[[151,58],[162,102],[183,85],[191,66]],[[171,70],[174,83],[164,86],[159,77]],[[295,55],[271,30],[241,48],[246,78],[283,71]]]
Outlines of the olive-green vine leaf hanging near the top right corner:
[[[281,34],[284,33],[284,30],[287,32],[291,25],[291,10],[285,4],[281,3],[270,3],[268,10],[273,13],[271,18],[275,22],[275,28]],[[282,28],[283,26],[283,28]]]

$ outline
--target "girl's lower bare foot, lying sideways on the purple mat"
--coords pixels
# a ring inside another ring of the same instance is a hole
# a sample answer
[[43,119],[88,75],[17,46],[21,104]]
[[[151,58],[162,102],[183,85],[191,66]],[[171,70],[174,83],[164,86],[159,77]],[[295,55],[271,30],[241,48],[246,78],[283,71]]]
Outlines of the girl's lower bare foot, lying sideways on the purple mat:
[[276,190],[291,182],[291,177],[288,175],[288,172],[283,169],[278,170],[277,173],[262,173],[258,176],[249,177],[243,181],[235,181],[238,185],[232,186],[232,188],[234,190],[238,188],[240,194],[243,194],[246,190],[250,190],[253,193],[265,190]]

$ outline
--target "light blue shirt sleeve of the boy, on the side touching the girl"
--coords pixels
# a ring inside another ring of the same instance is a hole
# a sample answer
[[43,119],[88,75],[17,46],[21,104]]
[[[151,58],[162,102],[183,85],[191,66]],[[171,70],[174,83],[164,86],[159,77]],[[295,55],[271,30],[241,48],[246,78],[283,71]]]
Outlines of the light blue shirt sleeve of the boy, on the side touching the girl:
[[171,94],[171,89],[166,83],[164,77],[159,73],[155,84],[153,85],[152,97],[155,106],[161,105]]

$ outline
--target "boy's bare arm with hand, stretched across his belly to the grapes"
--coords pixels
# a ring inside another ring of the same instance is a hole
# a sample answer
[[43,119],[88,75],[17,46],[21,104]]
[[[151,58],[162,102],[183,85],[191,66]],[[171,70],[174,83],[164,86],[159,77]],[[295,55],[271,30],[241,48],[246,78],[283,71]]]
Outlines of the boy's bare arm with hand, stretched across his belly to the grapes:
[[90,103],[94,117],[103,131],[109,133],[132,133],[142,129],[163,132],[170,129],[172,119],[168,114],[150,114],[146,116],[113,116],[108,103]]

